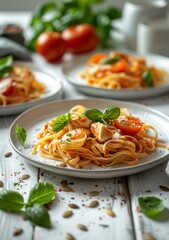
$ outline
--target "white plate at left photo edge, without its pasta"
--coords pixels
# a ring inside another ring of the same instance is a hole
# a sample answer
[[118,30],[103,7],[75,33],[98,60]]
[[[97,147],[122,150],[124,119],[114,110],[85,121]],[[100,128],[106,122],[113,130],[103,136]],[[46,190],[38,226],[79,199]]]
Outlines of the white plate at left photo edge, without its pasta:
[[63,92],[62,83],[55,77],[55,74],[51,70],[47,68],[42,69],[40,66],[28,62],[15,62],[14,65],[28,67],[34,74],[37,81],[43,83],[46,86],[46,90],[39,99],[24,103],[12,104],[5,107],[0,106],[0,116],[18,114],[37,104],[52,101],[55,99],[61,99]]

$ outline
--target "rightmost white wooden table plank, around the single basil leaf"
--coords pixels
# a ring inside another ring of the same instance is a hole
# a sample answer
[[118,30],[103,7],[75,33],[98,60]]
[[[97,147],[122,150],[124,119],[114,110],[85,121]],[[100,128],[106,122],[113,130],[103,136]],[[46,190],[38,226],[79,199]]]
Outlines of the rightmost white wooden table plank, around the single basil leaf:
[[[167,240],[169,236],[169,192],[160,189],[160,185],[169,187],[166,162],[157,167],[129,177],[132,213],[137,240],[150,234],[155,239]],[[163,200],[164,213],[156,219],[150,219],[138,211],[139,196],[155,196]]]

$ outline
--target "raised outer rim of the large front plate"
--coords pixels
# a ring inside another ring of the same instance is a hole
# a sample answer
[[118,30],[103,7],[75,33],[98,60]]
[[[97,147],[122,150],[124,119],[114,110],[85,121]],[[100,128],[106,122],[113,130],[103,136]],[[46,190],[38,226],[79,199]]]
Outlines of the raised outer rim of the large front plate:
[[[25,112],[23,112],[22,114],[20,114],[13,122],[12,122],[12,124],[11,124],[11,126],[10,126],[10,129],[9,129],[9,135],[8,135],[8,138],[9,138],[9,142],[10,142],[10,144],[11,144],[11,146],[12,146],[12,148],[19,154],[19,155],[21,155],[23,158],[25,158],[26,159],[26,161],[28,161],[29,163],[31,163],[32,165],[35,165],[35,166],[37,166],[37,165],[40,165],[39,167],[40,168],[42,168],[43,169],[43,166],[45,166],[45,167],[47,167],[47,168],[54,168],[54,169],[56,169],[56,171],[53,171],[53,172],[57,172],[58,173],[58,171],[59,170],[61,170],[62,172],[68,172],[68,173],[70,173],[70,174],[64,174],[64,175],[68,175],[68,176],[71,176],[72,175],[72,173],[76,173],[76,175],[77,176],[75,176],[75,177],[82,177],[82,178],[85,178],[85,174],[93,174],[93,177],[89,177],[89,176],[86,176],[86,178],[103,178],[103,177],[96,177],[95,175],[97,175],[98,173],[102,173],[102,174],[104,174],[104,173],[106,173],[107,175],[108,175],[108,177],[114,177],[113,176],[113,174],[112,174],[112,172],[113,173],[117,173],[117,175],[118,175],[118,172],[120,172],[120,171],[126,171],[126,174],[125,173],[123,173],[123,174],[120,174],[119,176],[125,176],[125,175],[131,175],[131,174],[134,174],[134,173],[138,173],[138,172],[141,172],[141,171],[145,171],[145,170],[147,170],[147,169],[149,169],[149,168],[152,168],[153,166],[156,166],[156,165],[158,165],[158,164],[160,164],[160,163],[162,163],[163,161],[166,161],[168,158],[169,158],[169,152],[168,152],[168,154],[166,154],[165,156],[163,156],[163,157],[160,157],[160,158],[158,158],[158,159],[155,159],[155,160],[151,160],[150,162],[143,162],[143,163],[141,163],[141,164],[139,164],[139,165],[133,165],[133,166],[126,166],[126,168],[121,168],[121,167],[117,167],[117,168],[115,168],[115,169],[96,169],[96,170],[92,170],[92,169],[88,169],[88,170],[86,170],[86,169],[74,169],[74,168],[62,168],[62,167],[59,167],[59,166],[53,166],[53,165],[49,165],[49,164],[47,164],[47,163],[42,163],[42,162],[38,162],[37,160],[34,160],[34,159],[31,159],[31,158],[29,158],[29,156],[26,156],[24,153],[22,153],[21,151],[19,151],[19,149],[15,146],[15,144],[13,143],[13,140],[12,140],[12,131],[13,131],[13,129],[14,129],[14,126],[16,125],[16,123],[17,123],[17,121],[18,120],[20,120],[20,119],[22,119],[22,117],[23,116],[25,116],[26,114],[29,114],[29,113],[31,113],[32,111],[36,111],[36,110],[38,110],[39,108],[44,108],[45,106],[47,107],[48,105],[53,105],[53,104],[60,104],[60,103],[66,103],[66,102],[72,102],[72,103],[78,103],[78,101],[83,101],[83,102],[90,102],[90,101],[97,101],[97,100],[99,100],[99,101],[104,101],[105,102],[105,104],[106,104],[106,102],[110,102],[110,101],[112,101],[112,100],[110,100],[110,99],[101,99],[101,98],[88,98],[88,99],[71,99],[71,100],[68,100],[68,99],[66,99],[66,100],[60,100],[60,101],[51,101],[51,102],[48,102],[48,103],[42,103],[42,104],[40,104],[40,105],[38,105],[38,106],[35,106],[35,107],[32,107],[31,109],[28,109],[28,110],[26,110]],[[169,116],[168,115],[166,115],[166,114],[164,114],[164,113],[162,113],[162,112],[160,112],[160,111],[158,111],[158,110],[156,110],[156,109],[153,109],[153,108],[150,108],[150,107],[147,107],[147,106],[145,106],[145,105],[143,105],[143,104],[139,104],[139,103],[131,103],[131,102],[129,102],[129,101],[119,101],[119,100],[113,100],[114,102],[119,102],[120,104],[130,104],[130,105],[132,105],[132,106],[135,106],[135,107],[143,107],[145,110],[147,109],[147,111],[150,111],[151,113],[153,113],[153,114],[158,114],[158,115],[160,115],[161,116],[161,118],[165,118],[165,119],[167,119],[167,120],[169,120]],[[50,160],[50,159],[49,159]],[[151,165],[150,167],[149,167],[149,165]],[[38,166],[37,166],[38,167]],[[139,167],[142,169],[142,170],[139,170]],[[133,170],[132,171],[132,173],[128,173],[130,170]],[[51,169],[50,170],[48,170],[48,171],[51,171]],[[51,171],[52,172],[52,171]],[[83,173],[82,174],[82,176],[79,176],[81,173]],[[63,173],[62,173],[63,174]],[[74,175],[73,175],[74,176]],[[105,177],[104,177],[105,178]]]

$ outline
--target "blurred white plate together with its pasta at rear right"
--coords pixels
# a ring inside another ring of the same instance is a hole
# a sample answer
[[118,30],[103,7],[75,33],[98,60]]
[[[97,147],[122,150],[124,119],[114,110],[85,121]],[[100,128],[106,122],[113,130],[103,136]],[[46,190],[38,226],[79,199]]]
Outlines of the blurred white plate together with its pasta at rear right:
[[97,52],[63,65],[67,81],[87,95],[144,99],[169,91],[169,58],[131,52]]

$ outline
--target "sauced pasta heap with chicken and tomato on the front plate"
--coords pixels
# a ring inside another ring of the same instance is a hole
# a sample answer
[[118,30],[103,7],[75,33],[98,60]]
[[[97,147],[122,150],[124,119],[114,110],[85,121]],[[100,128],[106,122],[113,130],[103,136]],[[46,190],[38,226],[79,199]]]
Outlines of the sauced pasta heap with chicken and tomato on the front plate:
[[[138,164],[157,146],[167,148],[158,143],[157,130],[132,116],[128,109],[121,108],[120,115],[107,122],[93,121],[85,111],[84,106],[74,106],[67,115],[69,120],[65,117],[67,122],[58,131],[53,131],[53,127],[59,117],[46,123],[37,135],[32,153],[39,152],[44,158],[62,161],[73,168],[90,164],[111,167],[119,163]],[[57,123],[61,125],[63,121]]]

